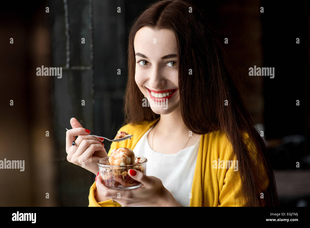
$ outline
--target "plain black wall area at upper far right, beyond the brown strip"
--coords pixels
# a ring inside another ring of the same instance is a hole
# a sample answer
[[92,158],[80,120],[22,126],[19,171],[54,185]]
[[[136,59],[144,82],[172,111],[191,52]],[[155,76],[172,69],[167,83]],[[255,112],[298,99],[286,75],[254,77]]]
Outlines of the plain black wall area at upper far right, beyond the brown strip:
[[291,4],[287,9],[274,1],[261,5],[266,8],[261,17],[263,65],[275,67],[274,78],[264,77],[267,137],[309,135],[309,7]]

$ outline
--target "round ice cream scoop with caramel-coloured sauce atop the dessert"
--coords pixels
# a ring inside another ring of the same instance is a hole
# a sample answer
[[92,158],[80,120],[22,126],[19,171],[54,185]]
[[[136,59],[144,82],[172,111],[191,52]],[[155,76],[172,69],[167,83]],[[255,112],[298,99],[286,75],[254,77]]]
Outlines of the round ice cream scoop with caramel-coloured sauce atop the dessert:
[[120,147],[113,149],[109,157],[111,165],[132,165],[135,164],[135,153],[129,149]]

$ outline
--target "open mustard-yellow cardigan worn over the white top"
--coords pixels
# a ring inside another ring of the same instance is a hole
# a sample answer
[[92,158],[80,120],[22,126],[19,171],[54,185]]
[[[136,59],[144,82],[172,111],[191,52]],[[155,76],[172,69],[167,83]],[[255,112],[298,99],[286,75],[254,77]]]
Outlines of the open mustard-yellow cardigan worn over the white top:
[[[108,156],[110,156],[114,148],[126,147],[133,150],[140,138],[158,120],[159,118],[151,122],[144,121],[140,125],[127,124],[121,127],[119,129],[120,131],[126,131],[133,136],[131,139],[119,143],[112,142]],[[247,145],[248,147],[250,146],[250,144]],[[191,207],[245,206],[242,197],[239,170],[234,171],[233,167],[230,169],[220,167],[220,169],[218,169],[218,159],[220,161],[236,160],[231,156],[232,146],[228,143],[222,131],[213,131],[209,134],[201,135],[193,178],[192,198],[190,199]],[[214,161],[216,161],[216,163]],[[265,176],[265,187],[267,188],[269,180],[266,172]],[[120,204],[115,201],[112,202],[112,200],[97,202],[95,199],[95,191],[96,182],[93,183],[89,192],[89,207],[121,207]]]

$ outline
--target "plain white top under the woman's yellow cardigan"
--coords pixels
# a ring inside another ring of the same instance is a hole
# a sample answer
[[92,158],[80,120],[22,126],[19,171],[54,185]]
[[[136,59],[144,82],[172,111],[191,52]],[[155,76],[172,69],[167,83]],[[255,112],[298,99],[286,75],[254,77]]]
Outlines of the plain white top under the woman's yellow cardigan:
[[151,149],[148,144],[147,135],[152,128],[140,138],[133,151],[135,155],[148,159],[146,175],[161,179],[175,200],[189,207],[200,138],[195,145],[175,154],[162,154]]

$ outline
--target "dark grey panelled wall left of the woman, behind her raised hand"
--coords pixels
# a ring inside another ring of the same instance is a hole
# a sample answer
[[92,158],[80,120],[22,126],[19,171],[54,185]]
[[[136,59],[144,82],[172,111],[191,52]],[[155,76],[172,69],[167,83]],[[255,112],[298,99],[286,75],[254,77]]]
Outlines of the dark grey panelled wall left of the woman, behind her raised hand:
[[[53,65],[63,67],[63,77],[54,80],[53,93],[60,206],[88,205],[89,188],[95,179],[94,174],[64,159],[65,128],[71,129],[70,118],[77,118],[91,133],[111,139],[122,126],[128,29],[144,4],[87,0],[68,1],[67,4],[65,1],[49,2]],[[117,13],[117,7],[121,7],[121,13]],[[121,70],[121,75],[117,74],[117,69]],[[81,105],[82,100],[85,106]],[[104,141],[107,151],[110,144]]]

